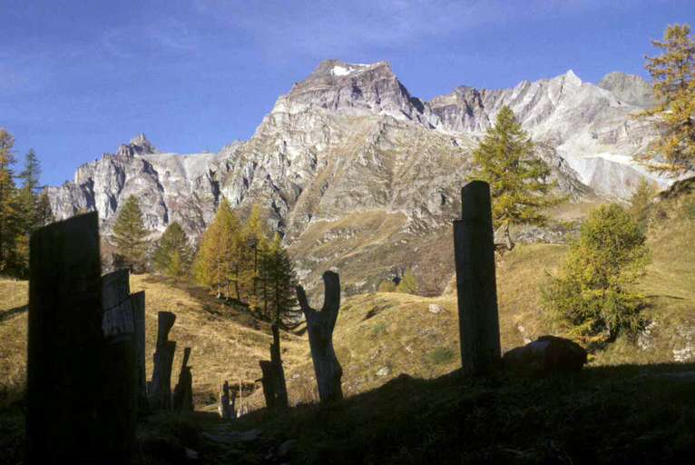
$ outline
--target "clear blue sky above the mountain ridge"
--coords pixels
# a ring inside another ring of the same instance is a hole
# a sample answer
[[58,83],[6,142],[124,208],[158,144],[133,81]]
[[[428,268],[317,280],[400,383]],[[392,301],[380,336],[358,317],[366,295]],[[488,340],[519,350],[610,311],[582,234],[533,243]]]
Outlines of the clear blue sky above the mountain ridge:
[[693,0],[0,0],[0,126],[43,182],[144,133],[164,151],[248,139],[327,58],[391,62],[412,94],[500,88],[573,69],[645,75]]

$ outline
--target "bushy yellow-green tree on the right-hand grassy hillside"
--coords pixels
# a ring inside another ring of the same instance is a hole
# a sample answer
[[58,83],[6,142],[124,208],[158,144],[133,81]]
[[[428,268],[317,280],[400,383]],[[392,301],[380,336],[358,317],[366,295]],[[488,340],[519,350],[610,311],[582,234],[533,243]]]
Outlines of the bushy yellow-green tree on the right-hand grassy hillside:
[[630,213],[602,205],[582,224],[556,277],[543,289],[543,307],[569,335],[590,347],[634,334],[645,306],[632,286],[650,261],[646,237]]

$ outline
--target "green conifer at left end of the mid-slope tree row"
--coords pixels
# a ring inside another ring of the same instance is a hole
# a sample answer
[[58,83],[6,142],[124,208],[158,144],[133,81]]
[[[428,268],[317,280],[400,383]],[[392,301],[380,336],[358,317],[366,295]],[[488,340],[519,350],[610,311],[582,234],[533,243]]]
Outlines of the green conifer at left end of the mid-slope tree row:
[[114,263],[132,272],[143,272],[146,268],[147,235],[140,203],[137,197],[131,195],[123,203],[113,224],[113,242],[116,245]]

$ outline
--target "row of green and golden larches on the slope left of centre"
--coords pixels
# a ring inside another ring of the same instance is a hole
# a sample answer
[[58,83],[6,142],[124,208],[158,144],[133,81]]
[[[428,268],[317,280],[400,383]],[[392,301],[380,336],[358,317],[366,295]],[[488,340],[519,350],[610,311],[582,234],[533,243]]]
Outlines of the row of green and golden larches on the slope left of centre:
[[242,222],[222,199],[195,245],[176,222],[152,244],[149,234],[137,198],[129,197],[113,225],[114,266],[133,272],[152,268],[171,278],[191,279],[218,298],[248,305],[279,325],[299,316],[294,263],[279,234],[271,235],[262,221],[258,205]]

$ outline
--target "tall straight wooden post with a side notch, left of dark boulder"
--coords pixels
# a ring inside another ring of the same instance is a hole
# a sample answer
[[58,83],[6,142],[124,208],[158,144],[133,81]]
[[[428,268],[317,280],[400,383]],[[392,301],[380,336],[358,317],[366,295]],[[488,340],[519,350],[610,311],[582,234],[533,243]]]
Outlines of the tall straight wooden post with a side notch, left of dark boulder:
[[461,198],[454,222],[461,361],[466,373],[485,374],[501,357],[490,186],[468,183]]

